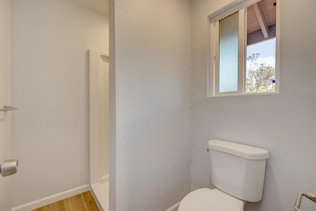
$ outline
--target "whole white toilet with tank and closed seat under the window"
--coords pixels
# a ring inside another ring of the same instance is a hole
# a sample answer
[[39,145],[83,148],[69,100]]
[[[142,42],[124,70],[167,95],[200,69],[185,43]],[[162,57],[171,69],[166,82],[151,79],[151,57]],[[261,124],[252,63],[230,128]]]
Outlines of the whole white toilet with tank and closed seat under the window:
[[246,202],[262,199],[269,151],[221,140],[209,140],[207,151],[216,188],[192,191],[178,211],[243,211]]

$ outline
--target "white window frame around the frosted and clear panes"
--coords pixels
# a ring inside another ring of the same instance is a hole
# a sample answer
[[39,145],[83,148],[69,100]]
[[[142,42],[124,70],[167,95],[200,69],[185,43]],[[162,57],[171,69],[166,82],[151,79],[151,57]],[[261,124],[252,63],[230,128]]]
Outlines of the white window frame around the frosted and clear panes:
[[[236,0],[237,1],[237,0]],[[247,7],[260,0],[244,0],[229,8],[223,7],[208,16],[208,97],[279,93],[279,2],[276,0],[276,78],[274,92],[246,93]],[[240,1],[239,1],[240,2]],[[238,12],[238,90],[219,92],[219,21]]]

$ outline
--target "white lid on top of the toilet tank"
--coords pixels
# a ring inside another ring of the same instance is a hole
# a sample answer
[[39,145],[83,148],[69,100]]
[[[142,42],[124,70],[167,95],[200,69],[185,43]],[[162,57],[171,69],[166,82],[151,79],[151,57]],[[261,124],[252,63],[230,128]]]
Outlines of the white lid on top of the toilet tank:
[[208,148],[236,155],[248,160],[263,160],[269,158],[268,150],[216,139],[208,141]]

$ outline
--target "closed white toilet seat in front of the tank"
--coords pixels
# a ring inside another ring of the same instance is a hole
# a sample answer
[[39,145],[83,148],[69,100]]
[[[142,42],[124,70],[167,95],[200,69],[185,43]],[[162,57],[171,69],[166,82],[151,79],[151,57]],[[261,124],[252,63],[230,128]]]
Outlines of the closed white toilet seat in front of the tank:
[[244,204],[216,188],[201,188],[184,197],[178,211],[243,211]]

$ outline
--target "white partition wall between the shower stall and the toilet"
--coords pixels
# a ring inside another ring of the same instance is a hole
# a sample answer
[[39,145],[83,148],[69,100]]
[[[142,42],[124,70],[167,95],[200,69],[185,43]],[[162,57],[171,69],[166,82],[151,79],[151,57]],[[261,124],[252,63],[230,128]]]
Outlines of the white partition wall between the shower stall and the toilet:
[[190,0],[115,1],[117,211],[163,211],[190,191],[190,18]]

